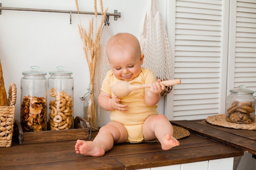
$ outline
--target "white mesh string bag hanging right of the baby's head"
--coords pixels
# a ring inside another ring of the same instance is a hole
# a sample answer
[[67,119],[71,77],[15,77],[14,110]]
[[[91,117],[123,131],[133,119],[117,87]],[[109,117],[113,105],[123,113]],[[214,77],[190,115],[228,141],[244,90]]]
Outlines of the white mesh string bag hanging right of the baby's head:
[[[144,25],[140,33],[141,51],[145,55],[143,67],[149,68],[156,79],[171,79],[171,51],[168,36],[156,0],[149,0]],[[172,86],[166,86],[161,96],[170,93]]]

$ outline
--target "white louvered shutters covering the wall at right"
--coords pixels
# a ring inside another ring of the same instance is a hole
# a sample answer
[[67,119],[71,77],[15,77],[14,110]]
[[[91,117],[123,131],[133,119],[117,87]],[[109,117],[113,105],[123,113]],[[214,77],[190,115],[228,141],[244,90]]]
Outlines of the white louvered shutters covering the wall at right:
[[173,78],[182,81],[166,97],[168,119],[224,114],[230,89],[256,91],[256,0],[171,0],[168,7]]

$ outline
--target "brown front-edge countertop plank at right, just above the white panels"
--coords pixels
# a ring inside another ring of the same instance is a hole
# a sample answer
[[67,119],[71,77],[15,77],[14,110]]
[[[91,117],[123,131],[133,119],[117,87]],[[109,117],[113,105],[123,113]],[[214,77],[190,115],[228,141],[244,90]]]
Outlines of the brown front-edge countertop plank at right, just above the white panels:
[[[232,156],[231,150],[234,150]],[[196,155],[196,156],[195,156]],[[155,153],[141,153],[134,156],[122,155],[115,156],[119,162],[125,165],[126,170],[152,168],[161,166],[169,166],[182,163],[193,163],[199,161],[207,161],[210,159],[222,159],[241,156],[240,151],[235,148],[227,148],[224,145],[205,146],[200,148],[186,148],[182,150],[158,151]],[[152,161],[154,160],[154,161]]]

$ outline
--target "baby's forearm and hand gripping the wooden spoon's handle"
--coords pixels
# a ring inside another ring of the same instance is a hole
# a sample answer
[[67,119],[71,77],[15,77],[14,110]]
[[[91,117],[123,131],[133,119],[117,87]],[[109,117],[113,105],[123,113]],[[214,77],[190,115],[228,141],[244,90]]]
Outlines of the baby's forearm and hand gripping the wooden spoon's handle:
[[154,106],[160,100],[160,93],[165,89],[164,84],[160,84],[160,79],[157,82],[152,83],[150,88],[145,91],[145,103],[148,106]]

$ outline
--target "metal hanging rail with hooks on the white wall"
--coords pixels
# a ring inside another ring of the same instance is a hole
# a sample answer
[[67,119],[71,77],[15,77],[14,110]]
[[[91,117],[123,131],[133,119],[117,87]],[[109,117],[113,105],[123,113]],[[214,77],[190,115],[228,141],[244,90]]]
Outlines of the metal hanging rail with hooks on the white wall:
[[[71,15],[72,13],[78,13],[77,11],[66,11],[66,10],[55,10],[55,9],[33,9],[33,8],[15,8],[15,7],[2,7],[2,3],[0,3],[0,15],[2,14],[1,10],[14,10],[14,11],[37,11],[37,12],[56,12],[56,13],[70,13],[70,24],[71,24]],[[90,14],[94,15],[94,12],[85,12],[79,11],[80,14]],[[98,12],[98,15],[101,13]],[[121,17],[121,13],[114,10],[114,13],[107,13],[105,21],[108,21],[109,16],[114,16],[114,20]],[[109,25],[109,23],[106,23]]]

